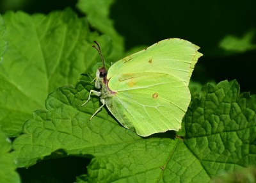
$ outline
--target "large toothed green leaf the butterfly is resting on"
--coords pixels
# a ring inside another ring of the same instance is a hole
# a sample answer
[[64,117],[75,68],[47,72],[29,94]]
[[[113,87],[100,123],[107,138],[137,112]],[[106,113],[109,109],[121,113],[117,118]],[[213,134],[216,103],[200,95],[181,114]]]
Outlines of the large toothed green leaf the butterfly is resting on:
[[256,96],[239,94],[236,81],[207,84],[185,118],[186,136],[170,132],[141,138],[99,107],[90,79],[51,93],[46,110],[24,125],[13,147],[19,166],[31,166],[52,152],[92,155],[88,182],[209,182],[225,171],[255,164]]

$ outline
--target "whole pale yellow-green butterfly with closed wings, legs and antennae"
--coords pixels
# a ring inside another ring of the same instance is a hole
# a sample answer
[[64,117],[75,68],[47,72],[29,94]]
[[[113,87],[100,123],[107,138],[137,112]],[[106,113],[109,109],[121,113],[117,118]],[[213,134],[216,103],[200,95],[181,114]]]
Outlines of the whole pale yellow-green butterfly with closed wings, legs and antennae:
[[95,79],[100,92],[91,90],[88,100],[94,93],[102,106],[92,117],[106,105],[118,122],[140,136],[179,131],[191,100],[189,79],[202,56],[198,46],[179,38],[162,40],[116,61],[108,72],[99,44],[95,48],[103,62]]

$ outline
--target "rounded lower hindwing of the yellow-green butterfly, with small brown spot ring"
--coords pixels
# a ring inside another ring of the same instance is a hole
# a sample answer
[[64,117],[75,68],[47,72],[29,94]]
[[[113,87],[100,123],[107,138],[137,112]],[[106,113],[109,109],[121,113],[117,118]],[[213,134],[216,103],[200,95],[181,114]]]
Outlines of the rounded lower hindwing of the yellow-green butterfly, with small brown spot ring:
[[188,87],[168,74],[126,75],[115,77],[116,94],[106,99],[118,122],[141,136],[178,131],[190,101]]

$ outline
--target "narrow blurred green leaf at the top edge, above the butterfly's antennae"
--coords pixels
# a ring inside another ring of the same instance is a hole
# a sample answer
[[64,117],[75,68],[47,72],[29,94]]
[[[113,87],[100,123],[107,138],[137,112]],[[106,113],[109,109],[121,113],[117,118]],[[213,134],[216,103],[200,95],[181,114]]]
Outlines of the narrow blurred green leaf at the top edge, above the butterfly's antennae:
[[86,13],[86,19],[93,28],[100,31],[100,33],[110,36],[113,40],[113,49],[115,51],[112,52],[109,58],[121,58],[124,52],[124,38],[117,33],[113,20],[109,18],[110,7],[113,3],[115,3],[115,0],[79,0],[77,8]]

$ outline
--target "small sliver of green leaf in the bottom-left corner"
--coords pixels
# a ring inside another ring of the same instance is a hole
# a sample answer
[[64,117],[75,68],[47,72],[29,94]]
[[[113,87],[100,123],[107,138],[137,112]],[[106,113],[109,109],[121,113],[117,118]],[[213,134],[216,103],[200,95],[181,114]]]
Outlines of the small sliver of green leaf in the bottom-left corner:
[[0,131],[0,182],[20,182],[18,173],[15,171],[14,155],[10,154],[11,142],[7,136]]

